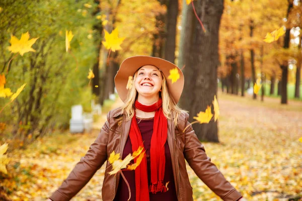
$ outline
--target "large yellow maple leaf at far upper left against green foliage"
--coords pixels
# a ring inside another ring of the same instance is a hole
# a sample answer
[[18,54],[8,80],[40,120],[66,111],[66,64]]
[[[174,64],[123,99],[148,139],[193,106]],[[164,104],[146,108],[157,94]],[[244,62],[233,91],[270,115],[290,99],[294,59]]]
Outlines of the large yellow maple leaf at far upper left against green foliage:
[[11,35],[11,46],[7,47],[9,51],[12,53],[20,53],[21,56],[23,56],[26,52],[35,52],[31,46],[36,42],[38,38],[32,38],[29,39],[29,33],[26,32],[25,34],[22,34],[21,39],[19,40],[17,37]]

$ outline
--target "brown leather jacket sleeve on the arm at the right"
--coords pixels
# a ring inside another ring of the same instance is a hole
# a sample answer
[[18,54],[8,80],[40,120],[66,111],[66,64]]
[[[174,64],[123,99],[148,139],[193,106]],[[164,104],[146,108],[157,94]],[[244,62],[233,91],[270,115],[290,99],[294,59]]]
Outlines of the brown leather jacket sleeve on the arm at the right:
[[204,146],[198,140],[192,125],[188,122],[186,113],[184,155],[196,175],[221,199],[225,201],[238,200],[242,195],[227,181],[216,165],[206,155]]

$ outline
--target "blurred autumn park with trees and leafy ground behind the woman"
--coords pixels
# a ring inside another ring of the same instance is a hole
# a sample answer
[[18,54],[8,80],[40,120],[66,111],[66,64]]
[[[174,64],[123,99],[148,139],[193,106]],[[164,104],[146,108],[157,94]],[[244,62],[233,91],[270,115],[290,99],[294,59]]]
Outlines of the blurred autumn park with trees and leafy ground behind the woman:
[[[122,105],[134,55],[182,69],[190,122],[216,95],[218,121],[193,129],[248,200],[301,200],[301,15],[300,0],[1,0],[0,200],[51,195]],[[187,169],[194,200],[221,200]],[[103,177],[73,200],[102,200]]]

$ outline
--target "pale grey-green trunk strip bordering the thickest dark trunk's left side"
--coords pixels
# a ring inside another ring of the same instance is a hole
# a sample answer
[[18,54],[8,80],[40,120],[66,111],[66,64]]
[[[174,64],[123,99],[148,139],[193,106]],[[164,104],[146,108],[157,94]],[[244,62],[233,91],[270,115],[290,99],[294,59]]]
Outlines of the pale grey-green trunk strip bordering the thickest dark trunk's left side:
[[181,33],[179,41],[179,55],[178,55],[178,66],[183,68],[186,64],[185,53],[190,50],[190,44],[188,41],[191,40],[193,33],[193,8],[192,6],[186,5],[186,0],[183,0],[182,18],[181,18]]

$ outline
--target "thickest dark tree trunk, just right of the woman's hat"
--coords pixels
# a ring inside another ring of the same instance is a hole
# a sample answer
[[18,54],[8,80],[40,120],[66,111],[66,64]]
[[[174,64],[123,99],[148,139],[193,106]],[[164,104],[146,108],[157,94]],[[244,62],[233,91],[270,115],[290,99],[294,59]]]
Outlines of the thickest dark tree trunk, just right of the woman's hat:
[[[211,2],[197,0],[194,1],[194,5],[206,32],[203,32],[196,19],[188,22],[192,23],[194,32],[193,37],[186,41],[190,45],[190,50],[185,53],[188,68],[184,68],[185,87],[180,104],[190,112],[189,121],[211,105],[217,92],[218,31],[223,0]],[[219,142],[217,122],[194,124],[193,129],[199,140]]]

